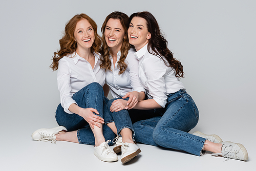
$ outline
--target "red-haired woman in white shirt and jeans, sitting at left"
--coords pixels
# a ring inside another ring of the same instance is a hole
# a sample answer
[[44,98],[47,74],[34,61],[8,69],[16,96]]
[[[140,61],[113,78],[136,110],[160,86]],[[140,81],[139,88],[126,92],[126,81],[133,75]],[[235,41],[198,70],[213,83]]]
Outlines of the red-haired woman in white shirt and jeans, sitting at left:
[[[56,121],[60,126],[39,129],[32,138],[95,145],[94,155],[100,160],[117,161],[108,145],[115,134],[102,119],[105,71],[100,68],[101,39],[96,23],[86,14],[75,15],[67,23],[59,44],[50,67],[58,71],[61,103]],[[105,142],[105,138],[111,140]]]

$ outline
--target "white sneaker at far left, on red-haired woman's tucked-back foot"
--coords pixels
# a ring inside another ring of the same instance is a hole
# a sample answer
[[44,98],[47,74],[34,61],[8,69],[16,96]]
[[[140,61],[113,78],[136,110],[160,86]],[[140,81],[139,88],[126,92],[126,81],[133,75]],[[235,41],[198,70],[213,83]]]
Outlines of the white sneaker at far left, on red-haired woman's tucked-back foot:
[[56,143],[56,134],[59,134],[61,131],[68,131],[64,126],[53,127],[52,129],[39,129],[33,132],[31,135],[33,140],[38,141],[49,141]]

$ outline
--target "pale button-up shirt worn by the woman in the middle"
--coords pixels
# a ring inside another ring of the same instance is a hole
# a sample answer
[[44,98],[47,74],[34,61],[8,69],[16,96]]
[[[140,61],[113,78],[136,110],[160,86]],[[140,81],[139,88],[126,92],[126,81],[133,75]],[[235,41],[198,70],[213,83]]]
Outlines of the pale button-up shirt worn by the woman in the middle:
[[138,65],[139,61],[134,56],[135,50],[130,49],[129,53],[126,56],[125,62],[127,64],[126,70],[122,74],[119,73],[119,69],[117,66],[117,62],[120,59],[121,52],[117,53],[117,61],[113,63],[113,57],[110,56],[111,60],[111,70],[106,71],[106,83],[110,87],[111,95],[114,98],[121,98],[128,92],[137,91],[137,92],[145,92],[145,90],[141,87],[138,77]]

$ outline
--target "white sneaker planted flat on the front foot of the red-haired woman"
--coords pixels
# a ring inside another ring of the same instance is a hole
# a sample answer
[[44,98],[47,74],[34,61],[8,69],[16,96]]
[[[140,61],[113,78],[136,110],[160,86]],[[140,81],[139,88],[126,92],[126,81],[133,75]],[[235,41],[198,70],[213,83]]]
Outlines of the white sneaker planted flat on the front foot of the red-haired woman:
[[94,155],[102,161],[106,161],[106,162],[117,161],[118,157],[112,151],[112,149],[110,149],[110,146],[108,144],[109,142],[111,142],[111,140],[102,142],[99,146],[95,146]]

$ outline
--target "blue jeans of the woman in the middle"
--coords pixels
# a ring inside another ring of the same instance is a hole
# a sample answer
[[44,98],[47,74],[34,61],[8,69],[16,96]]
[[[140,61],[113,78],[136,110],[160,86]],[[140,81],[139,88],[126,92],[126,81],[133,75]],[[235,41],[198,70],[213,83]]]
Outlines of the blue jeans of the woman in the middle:
[[[129,116],[129,112],[127,110],[121,110],[119,112],[110,112],[110,106],[114,100],[117,100],[118,98],[115,99],[107,99],[104,98],[105,102],[108,104],[108,111],[104,111],[103,119],[105,122],[105,125],[111,122],[115,122],[116,129],[117,129],[117,134],[119,136],[120,132],[124,128],[129,128],[133,132],[133,137],[134,137],[134,129],[133,129],[133,123],[132,120]],[[128,100],[129,98],[126,98],[124,100]]]

